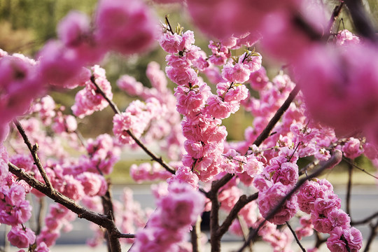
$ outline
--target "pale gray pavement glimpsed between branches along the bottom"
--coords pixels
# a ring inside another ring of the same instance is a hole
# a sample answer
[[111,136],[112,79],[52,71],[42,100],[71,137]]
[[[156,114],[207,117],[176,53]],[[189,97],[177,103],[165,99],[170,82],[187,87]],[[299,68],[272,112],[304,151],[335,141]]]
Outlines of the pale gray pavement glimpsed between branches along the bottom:
[[[137,200],[141,204],[141,207],[155,207],[155,200],[151,195],[151,190],[148,186],[137,185],[130,186],[130,188],[132,188],[132,190],[134,191],[134,200]],[[115,186],[113,188],[113,196],[115,199],[120,198],[122,190],[123,187]],[[335,187],[335,193],[337,193],[337,195],[339,195],[339,197],[342,199],[342,208],[345,209],[345,187]],[[353,221],[359,221],[378,211],[377,186],[353,186],[353,190],[351,193],[351,216]],[[295,221],[293,221],[293,223],[291,224],[294,227],[296,225]],[[0,225],[0,246],[3,244],[3,232],[1,231],[4,227],[5,225]],[[356,228],[358,228],[363,233],[364,239],[367,239],[367,236],[370,234],[370,228],[366,226],[357,226]],[[105,246],[100,246],[98,248],[89,248],[85,246],[86,239],[90,237],[92,237],[92,231],[89,228],[89,223],[83,219],[76,219],[76,221],[73,223],[73,230],[69,233],[63,233],[62,237],[60,237],[57,240],[57,245],[52,248],[52,251],[106,251]],[[237,248],[241,246],[241,239],[239,237],[226,234],[223,238],[224,239],[222,242],[222,251],[235,251]],[[314,241],[311,241],[311,239],[306,238],[304,239],[303,243],[305,248],[311,248],[312,244],[314,244]],[[12,248],[11,251],[18,251],[18,249]],[[123,251],[127,251],[127,246],[123,248]],[[210,251],[209,245],[205,246],[203,251]],[[257,242],[257,244],[255,244],[254,251],[272,251],[272,248],[268,244],[259,241]],[[295,243],[293,244],[293,251],[300,251],[299,246],[297,246],[297,244]],[[325,244],[321,247],[321,251],[328,251]],[[372,246],[370,251],[378,251],[377,237],[374,241],[374,246]]]

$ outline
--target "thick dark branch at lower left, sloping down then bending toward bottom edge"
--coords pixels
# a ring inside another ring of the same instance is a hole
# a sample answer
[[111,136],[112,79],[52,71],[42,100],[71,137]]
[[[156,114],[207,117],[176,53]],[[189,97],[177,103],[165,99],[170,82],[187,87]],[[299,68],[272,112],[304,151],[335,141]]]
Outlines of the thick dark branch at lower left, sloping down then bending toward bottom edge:
[[[73,211],[75,214],[78,215],[78,218],[85,218],[87,221],[91,221],[101,227],[106,228],[113,237],[112,241],[114,244],[111,244],[112,252],[120,252],[120,245],[119,238],[121,233],[116,228],[116,224],[108,218],[108,216],[104,214],[97,214],[93,211],[87,210],[84,207],[80,206],[76,201],[62,195],[54,188],[48,188],[45,184],[37,181],[32,176],[29,176],[26,172],[22,169],[18,168],[17,166],[13,165],[12,163],[8,162],[8,169],[9,172],[14,174],[18,177],[18,179],[22,179],[29,184],[32,188],[38,190],[39,192],[43,193],[50,199],[54,200],[55,202],[62,204],[62,206],[66,207],[67,209]],[[119,248],[119,249],[118,249]]]

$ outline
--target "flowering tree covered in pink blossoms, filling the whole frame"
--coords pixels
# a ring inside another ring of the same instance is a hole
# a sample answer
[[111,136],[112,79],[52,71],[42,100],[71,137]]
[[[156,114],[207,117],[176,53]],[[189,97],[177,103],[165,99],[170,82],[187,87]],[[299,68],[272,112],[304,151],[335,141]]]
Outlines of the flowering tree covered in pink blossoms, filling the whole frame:
[[[353,165],[364,154],[378,163],[377,36],[360,1],[339,1],[330,14],[306,0],[181,4],[213,38],[210,55],[195,45],[193,31],[172,27],[167,18],[159,25],[152,7],[138,0],[100,0],[93,20],[69,13],[58,38],[35,59],[0,52],[0,223],[12,227],[10,243],[49,251],[78,217],[97,231],[90,245],[105,239],[109,251],[120,251],[120,242],[132,243],[130,251],[200,251],[200,216],[210,211],[211,251],[221,250],[228,231],[244,235],[239,251],[258,236],[274,251],[290,251],[293,239],[305,251],[300,240],[313,232],[309,251],[324,242],[330,251],[359,251],[363,237],[353,225],[371,223],[367,251],[377,214],[352,221],[332,184],[317,179],[342,159]],[[335,29],[343,8],[358,36]],[[120,111],[99,62],[109,51],[144,52],[156,40],[167,52],[165,71],[148,64],[151,88],[121,76],[118,87],[136,99]],[[287,72],[269,80],[255,43]],[[48,95],[78,86],[72,114]],[[78,119],[107,106],[114,112],[113,136],[81,139]],[[241,106],[253,123],[243,141],[227,141],[230,129],[222,120]],[[153,142],[167,158],[151,151]],[[112,198],[104,176],[126,146],[143,149],[153,161],[130,167],[135,181],[167,181],[153,187],[152,213],[140,209],[130,190],[122,202]],[[307,157],[311,163],[299,167]],[[56,202],[34,229],[30,193]],[[300,227],[293,230],[295,216]]]

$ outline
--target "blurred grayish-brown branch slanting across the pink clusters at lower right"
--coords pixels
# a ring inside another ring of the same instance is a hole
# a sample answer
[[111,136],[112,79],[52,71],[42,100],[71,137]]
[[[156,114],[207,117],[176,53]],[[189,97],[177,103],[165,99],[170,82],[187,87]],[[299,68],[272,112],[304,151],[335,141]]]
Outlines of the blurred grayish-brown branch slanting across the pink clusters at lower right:
[[260,225],[258,225],[258,228],[256,228],[255,230],[249,233],[248,240],[244,242],[243,246],[241,246],[238,252],[243,251],[244,248],[248,246],[248,244],[250,244],[252,241],[255,240],[255,238],[258,235],[258,230],[262,228],[262,226],[265,224],[265,221],[271,219],[274,216],[274,214],[276,214],[279,211],[279,209],[281,209],[283,204],[285,204],[286,200],[290,199],[290,197],[293,196],[294,193],[300,189],[300,187],[304,184],[304,182],[306,182],[309,179],[314,179],[316,176],[320,175],[321,172],[323,172],[323,170],[329,167],[334,167],[336,164],[340,162],[340,160],[342,160],[342,152],[339,150],[336,150],[335,153],[333,153],[332,157],[329,160],[322,162],[321,167],[316,169],[314,173],[297,181],[295,187],[292,190],[290,190],[290,192],[285,197],[283,197],[282,200],[278,204],[276,204],[276,207],[274,207],[272,211],[269,211],[269,214],[267,214],[267,216],[265,217],[265,220],[263,220],[260,223]]

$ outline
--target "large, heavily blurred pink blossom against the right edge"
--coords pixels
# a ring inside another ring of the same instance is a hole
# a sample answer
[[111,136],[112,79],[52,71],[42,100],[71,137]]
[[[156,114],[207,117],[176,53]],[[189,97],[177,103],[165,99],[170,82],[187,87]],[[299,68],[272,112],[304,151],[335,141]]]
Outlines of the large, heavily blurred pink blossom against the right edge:
[[349,45],[347,50],[331,45],[306,50],[295,62],[295,76],[311,117],[339,134],[353,133],[374,121],[378,60],[372,55],[377,54],[368,43]]

